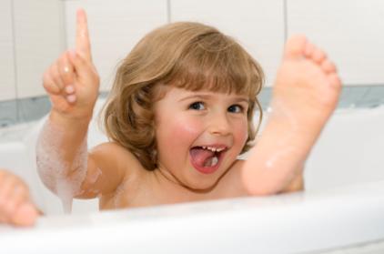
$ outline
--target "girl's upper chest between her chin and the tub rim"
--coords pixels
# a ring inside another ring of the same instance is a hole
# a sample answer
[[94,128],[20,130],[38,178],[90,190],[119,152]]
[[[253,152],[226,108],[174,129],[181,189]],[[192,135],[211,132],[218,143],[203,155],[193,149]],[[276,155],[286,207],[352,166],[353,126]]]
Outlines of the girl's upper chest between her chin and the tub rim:
[[143,167],[126,168],[130,171],[126,178],[114,192],[100,198],[99,208],[137,208],[247,196],[247,191],[240,181],[239,169],[242,163],[242,160],[237,160],[225,175],[217,180],[214,187],[205,190],[182,186],[167,178],[160,169],[148,171]]

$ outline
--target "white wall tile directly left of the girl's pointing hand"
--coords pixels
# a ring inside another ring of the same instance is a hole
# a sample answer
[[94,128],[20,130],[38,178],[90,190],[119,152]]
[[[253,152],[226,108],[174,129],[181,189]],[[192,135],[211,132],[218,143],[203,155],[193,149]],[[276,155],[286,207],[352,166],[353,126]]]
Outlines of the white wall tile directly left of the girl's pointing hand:
[[18,97],[45,95],[42,76],[64,49],[59,0],[15,0]]

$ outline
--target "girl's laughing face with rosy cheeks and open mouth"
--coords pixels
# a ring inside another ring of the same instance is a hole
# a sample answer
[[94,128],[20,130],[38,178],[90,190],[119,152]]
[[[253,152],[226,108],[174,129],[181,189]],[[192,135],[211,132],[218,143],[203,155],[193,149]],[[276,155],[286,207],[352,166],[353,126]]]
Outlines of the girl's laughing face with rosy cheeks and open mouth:
[[187,188],[213,187],[248,138],[248,97],[170,86],[155,103],[158,169]]

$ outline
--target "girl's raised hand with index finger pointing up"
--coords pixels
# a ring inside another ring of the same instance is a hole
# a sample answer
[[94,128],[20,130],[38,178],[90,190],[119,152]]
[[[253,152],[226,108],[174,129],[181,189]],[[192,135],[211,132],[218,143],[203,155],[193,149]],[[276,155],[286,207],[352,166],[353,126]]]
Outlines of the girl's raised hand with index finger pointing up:
[[52,110],[69,117],[91,117],[99,76],[92,63],[91,46],[84,10],[76,16],[76,50],[66,51],[44,74],[43,86]]

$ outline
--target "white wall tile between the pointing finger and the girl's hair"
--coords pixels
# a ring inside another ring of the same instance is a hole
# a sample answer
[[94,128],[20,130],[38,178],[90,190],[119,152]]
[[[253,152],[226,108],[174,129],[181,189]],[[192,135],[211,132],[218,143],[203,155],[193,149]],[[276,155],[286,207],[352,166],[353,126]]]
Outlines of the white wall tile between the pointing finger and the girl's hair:
[[66,1],[66,42],[75,46],[76,9],[86,9],[93,59],[101,90],[108,90],[116,66],[148,32],[167,23],[166,0]]

